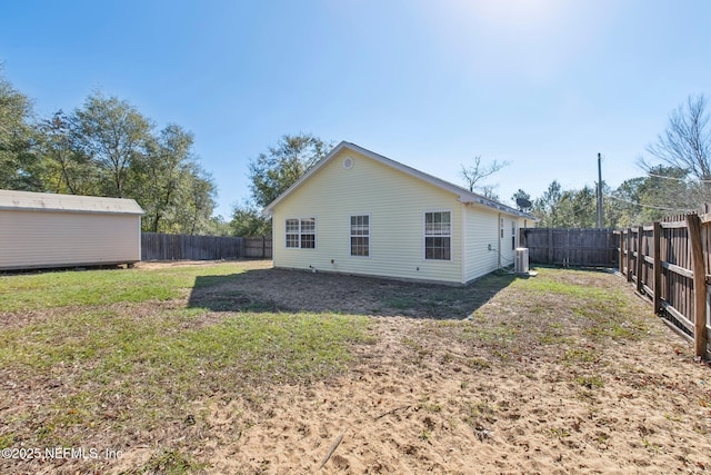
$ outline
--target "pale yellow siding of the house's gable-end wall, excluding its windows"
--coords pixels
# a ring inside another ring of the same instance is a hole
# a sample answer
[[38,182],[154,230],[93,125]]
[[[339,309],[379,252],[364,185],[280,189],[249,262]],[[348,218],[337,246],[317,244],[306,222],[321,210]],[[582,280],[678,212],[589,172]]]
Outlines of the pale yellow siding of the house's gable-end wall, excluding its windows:
[[[350,169],[343,167],[348,157]],[[346,149],[273,208],[274,266],[461,283],[462,209],[457,195]],[[369,215],[367,259],[351,256],[349,229],[350,217],[363,210]],[[450,260],[424,258],[422,221],[433,210],[450,210]],[[316,253],[283,243],[286,219],[298,216],[318,216]]]

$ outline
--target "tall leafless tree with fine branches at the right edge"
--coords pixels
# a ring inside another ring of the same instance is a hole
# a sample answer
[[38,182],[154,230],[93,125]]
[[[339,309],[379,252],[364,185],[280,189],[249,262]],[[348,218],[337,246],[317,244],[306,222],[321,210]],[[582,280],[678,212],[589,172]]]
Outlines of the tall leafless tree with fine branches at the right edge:
[[[711,179],[711,130],[703,95],[689,96],[670,118],[663,133],[647,151],[661,161],[687,170],[693,178]],[[642,161],[642,167],[651,167]]]

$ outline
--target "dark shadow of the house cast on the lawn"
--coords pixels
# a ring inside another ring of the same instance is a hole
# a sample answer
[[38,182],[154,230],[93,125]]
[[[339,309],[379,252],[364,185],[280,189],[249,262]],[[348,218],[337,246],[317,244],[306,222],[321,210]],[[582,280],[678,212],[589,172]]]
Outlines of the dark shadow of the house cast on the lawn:
[[313,311],[462,319],[517,277],[493,273],[467,286],[301,270],[254,269],[197,277],[189,306],[212,311]]

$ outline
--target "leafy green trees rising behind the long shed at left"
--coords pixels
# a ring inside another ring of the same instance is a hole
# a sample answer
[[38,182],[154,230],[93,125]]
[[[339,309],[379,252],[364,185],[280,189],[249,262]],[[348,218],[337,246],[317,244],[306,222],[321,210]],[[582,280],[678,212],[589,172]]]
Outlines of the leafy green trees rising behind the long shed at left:
[[181,126],[157,130],[131,103],[100,91],[38,119],[0,76],[0,188],[132,198],[146,211],[144,231],[213,234],[217,187],[193,142]]

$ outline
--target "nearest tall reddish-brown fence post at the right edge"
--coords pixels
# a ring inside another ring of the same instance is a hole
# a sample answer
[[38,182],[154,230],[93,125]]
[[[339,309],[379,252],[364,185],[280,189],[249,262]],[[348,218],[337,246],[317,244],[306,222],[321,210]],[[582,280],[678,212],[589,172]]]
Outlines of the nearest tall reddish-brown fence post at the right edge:
[[693,342],[695,354],[707,354],[707,276],[701,244],[701,218],[687,215],[687,227],[691,240],[691,265],[693,268]]

